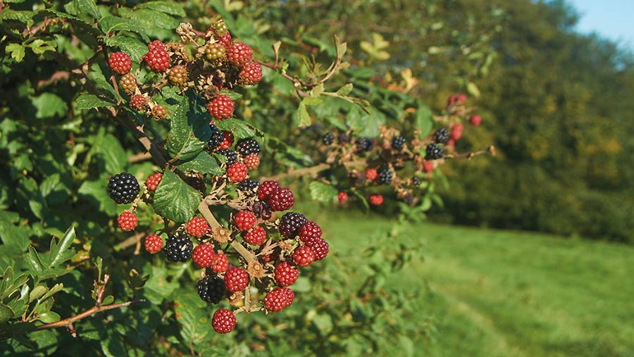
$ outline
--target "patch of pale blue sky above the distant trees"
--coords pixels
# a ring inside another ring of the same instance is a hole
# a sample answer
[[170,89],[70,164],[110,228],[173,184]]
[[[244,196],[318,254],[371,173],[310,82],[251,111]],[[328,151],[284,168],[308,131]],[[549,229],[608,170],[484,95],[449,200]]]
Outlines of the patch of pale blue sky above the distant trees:
[[578,32],[597,32],[634,49],[634,0],[568,0],[580,14]]

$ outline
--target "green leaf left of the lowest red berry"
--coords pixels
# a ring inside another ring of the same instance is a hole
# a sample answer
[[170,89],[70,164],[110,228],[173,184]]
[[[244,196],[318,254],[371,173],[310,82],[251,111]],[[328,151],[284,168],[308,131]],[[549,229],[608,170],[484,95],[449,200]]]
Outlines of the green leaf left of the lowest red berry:
[[209,333],[209,312],[194,294],[182,294],[174,301],[176,320],[182,328],[180,334],[188,344],[196,344]]

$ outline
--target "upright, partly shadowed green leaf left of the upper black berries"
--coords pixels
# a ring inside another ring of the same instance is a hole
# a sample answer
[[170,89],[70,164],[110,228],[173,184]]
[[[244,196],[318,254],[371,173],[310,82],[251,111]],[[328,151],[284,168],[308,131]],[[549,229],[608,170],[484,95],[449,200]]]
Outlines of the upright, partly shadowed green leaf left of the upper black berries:
[[[189,96],[193,98],[190,99]],[[166,147],[170,156],[179,160],[197,156],[211,137],[209,118],[206,117],[206,112],[201,112],[199,98],[192,94],[182,97],[171,124]]]

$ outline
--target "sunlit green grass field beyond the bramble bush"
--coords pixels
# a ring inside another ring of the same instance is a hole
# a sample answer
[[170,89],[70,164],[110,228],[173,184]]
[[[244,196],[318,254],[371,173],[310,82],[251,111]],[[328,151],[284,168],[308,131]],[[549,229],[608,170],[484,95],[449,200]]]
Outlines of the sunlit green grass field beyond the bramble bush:
[[[325,214],[340,253],[391,225]],[[425,246],[391,282],[435,321],[420,356],[634,356],[634,247],[430,223],[395,239]]]

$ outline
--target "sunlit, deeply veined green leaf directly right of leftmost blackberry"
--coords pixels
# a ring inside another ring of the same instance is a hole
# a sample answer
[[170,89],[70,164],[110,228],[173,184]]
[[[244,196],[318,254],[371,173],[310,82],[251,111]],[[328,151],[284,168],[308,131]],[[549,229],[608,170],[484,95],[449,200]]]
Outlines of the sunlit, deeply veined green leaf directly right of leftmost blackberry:
[[176,223],[185,223],[194,217],[201,201],[200,192],[190,187],[170,170],[163,173],[154,192],[154,211]]

